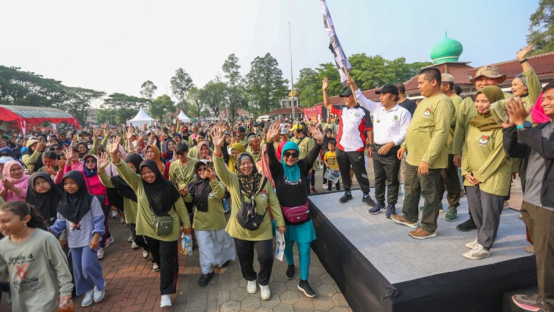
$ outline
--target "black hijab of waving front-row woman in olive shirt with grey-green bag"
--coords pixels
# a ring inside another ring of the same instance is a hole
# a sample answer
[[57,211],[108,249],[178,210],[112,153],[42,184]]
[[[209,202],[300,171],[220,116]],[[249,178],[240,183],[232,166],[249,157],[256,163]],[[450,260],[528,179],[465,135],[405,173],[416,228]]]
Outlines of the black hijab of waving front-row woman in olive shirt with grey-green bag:
[[158,164],[154,160],[143,160],[139,167],[139,172],[142,172],[143,167],[150,168],[156,175],[154,183],[148,183],[143,180],[144,192],[148,203],[150,203],[150,208],[152,208],[152,211],[157,216],[167,214],[173,207],[173,204],[181,198],[181,194],[177,191],[175,184],[163,178],[158,169]]

